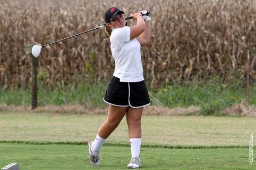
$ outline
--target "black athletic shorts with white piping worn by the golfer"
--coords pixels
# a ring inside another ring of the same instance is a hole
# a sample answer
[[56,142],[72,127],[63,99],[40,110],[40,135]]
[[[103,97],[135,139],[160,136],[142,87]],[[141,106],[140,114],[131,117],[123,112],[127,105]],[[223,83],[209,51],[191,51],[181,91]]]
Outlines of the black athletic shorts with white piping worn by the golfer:
[[118,107],[141,108],[150,104],[144,80],[132,83],[120,82],[115,76],[111,77],[103,100]]

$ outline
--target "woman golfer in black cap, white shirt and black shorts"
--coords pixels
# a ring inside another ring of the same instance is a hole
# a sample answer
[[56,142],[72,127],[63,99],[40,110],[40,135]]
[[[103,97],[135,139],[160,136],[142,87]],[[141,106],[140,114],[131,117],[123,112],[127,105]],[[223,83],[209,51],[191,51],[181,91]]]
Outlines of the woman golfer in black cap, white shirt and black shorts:
[[115,71],[103,99],[109,104],[107,119],[100,126],[95,140],[88,143],[92,166],[100,165],[99,152],[103,143],[126,114],[132,153],[127,168],[141,167],[141,115],[150,100],[143,78],[140,47],[148,44],[151,34],[151,18],[142,16],[142,12],[132,14],[137,21],[133,27],[125,26],[124,12],[116,7],[105,12],[105,31],[110,37]]

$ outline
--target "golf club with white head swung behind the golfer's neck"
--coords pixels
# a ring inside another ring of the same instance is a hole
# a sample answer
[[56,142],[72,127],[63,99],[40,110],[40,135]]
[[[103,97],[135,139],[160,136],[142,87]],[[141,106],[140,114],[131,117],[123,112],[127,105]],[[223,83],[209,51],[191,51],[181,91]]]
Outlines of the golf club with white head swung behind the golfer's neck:
[[[149,14],[150,12],[149,12],[149,11],[146,11],[145,13],[146,13],[146,14],[142,14],[142,15],[147,15],[147,14]],[[133,17],[125,18],[125,20],[130,20],[130,19],[133,19]],[[99,28],[102,28],[102,27],[105,27],[105,26],[106,26],[106,23],[103,24],[103,25],[100,26],[100,27],[96,27],[96,28],[93,28],[93,29],[84,31],[84,32],[82,32],[82,33],[78,33],[78,34],[75,34],[75,35],[73,35],[73,36],[69,36],[69,37],[60,39],[60,40],[58,40],[58,41],[55,41],[55,42],[53,42],[53,43],[46,44],[46,45],[43,45],[43,46],[34,45],[34,46],[32,47],[32,55],[33,55],[35,58],[37,58],[37,57],[39,56],[39,54],[40,54],[40,52],[41,52],[41,49],[42,49],[43,47],[46,47],[46,46],[48,46],[48,45],[52,45],[52,44],[55,44],[55,43],[64,41],[64,40],[66,40],[66,39],[69,39],[69,38],[72,38],[72,37],[75,37],[75,36],[78,36],[78,35],[81,35],[81,34],[84,34],[84,33],[88,33],[88,32],[90,32],[90,31],[93,31],[93,30],[96,30],[96,29],[99,29]]]

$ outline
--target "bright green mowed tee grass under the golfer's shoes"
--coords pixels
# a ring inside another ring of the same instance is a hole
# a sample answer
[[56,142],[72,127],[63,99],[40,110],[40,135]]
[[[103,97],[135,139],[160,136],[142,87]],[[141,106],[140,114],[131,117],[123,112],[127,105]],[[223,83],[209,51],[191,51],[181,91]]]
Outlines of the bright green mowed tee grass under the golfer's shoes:
[[[103,146],[100,167],[92,167],[86,145],[0,143],[0,165],[18,163],[20,169],[126,169],[129,147]],[[141,169],[253,169],[248,148],[141,148]]]

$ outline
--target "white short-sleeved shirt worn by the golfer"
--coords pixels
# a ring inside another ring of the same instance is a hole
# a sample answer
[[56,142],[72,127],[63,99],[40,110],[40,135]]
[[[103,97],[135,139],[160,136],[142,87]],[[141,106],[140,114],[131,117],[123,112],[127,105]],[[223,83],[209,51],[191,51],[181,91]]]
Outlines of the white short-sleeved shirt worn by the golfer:
[[116,65],[113,76],[120,82],[141,82],[144,78],[140,43],[136,38],[130,41],[130,33],[130,27],[112,30],[110,47]]

